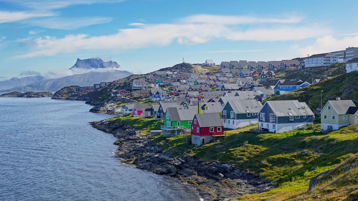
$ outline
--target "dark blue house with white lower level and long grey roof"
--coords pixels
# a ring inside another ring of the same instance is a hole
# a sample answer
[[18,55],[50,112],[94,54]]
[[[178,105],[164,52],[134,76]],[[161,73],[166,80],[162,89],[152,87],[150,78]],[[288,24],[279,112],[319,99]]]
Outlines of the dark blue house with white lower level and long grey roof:
[[314,113],[305,102],[298,100],[266,101],[258,112],[261,131],[283,133],[313,123]]

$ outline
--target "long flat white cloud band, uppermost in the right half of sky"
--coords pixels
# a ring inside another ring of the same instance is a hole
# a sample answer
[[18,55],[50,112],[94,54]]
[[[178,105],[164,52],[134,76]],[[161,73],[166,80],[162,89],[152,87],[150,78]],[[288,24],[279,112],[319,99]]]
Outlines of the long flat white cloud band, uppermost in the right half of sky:
[[298,23],[302,20],[298,16],[287,18],[257,18],[254,16],[230,15],[192,15],[182,18],[183,23],[214,23],[214,24],[252,24],[252,23]]

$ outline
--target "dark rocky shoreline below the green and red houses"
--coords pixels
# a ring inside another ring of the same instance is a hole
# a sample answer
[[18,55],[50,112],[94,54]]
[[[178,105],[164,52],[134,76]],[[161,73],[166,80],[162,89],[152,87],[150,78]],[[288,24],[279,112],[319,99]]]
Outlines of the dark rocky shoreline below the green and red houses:
[[149,138],[140,136],[128,125],[107,120],[90,123],[94,128],[112,133],[117,138],[116,156],[122,159],[121,162],[159,175],[177,177],[194,186],[204,200],[231,200],[273,187],[272,183],[228,164],[207,163],[189,156],[171,157],[170,153],[153,146]]

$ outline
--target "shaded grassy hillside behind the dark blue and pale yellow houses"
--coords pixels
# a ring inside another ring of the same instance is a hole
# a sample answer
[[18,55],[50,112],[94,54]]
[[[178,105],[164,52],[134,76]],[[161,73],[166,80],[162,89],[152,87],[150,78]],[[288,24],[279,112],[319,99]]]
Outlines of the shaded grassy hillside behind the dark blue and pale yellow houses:
[[337,77],[312,84],[308,87],[295,90],[286,94],[272,97],[270,100],[299,100],[306,102],[312,108],[317,108],[321,102],[324,105],[328,100],[336,97],[342,99],[352,99],[358,103],[358,72],[351,72]]

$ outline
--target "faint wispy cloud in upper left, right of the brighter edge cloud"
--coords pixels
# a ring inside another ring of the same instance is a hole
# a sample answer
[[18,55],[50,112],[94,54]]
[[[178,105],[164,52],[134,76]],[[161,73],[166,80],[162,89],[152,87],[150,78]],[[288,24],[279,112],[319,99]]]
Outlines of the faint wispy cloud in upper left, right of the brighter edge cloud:
[[28,20],[24,23],[32,26],[41,26],[49,29],[77,29],[93,24],[108,23],[111,18],[90,17],[90,18],[44,18]]

